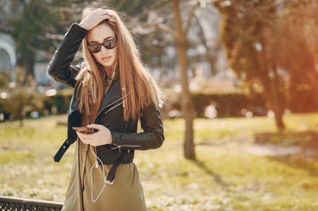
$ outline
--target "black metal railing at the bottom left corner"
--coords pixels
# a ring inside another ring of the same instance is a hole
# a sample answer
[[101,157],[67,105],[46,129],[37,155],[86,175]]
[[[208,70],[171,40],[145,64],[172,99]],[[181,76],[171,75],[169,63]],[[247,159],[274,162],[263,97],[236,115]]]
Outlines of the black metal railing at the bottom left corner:
[[60,211],[61,202],[0,196],[0,211]]

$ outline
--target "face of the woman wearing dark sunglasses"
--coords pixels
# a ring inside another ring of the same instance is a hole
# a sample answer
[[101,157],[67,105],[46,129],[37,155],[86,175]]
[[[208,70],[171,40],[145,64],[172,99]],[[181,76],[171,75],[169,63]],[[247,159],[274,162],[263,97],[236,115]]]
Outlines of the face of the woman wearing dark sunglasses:
[[[98,25],[88,32],[88,45],[103,44],[107,41],[116,39],[115,31],[108,24]],[[95,60],[103,67],[107,75],[111,74],[115,68],[115,63],[118,57],[118,43],[115,41],[116,47],[113,49],[106,49],[102,45],[101,50],[98,53],[92,53]],[[111,47],[108,43],[107,46]]]

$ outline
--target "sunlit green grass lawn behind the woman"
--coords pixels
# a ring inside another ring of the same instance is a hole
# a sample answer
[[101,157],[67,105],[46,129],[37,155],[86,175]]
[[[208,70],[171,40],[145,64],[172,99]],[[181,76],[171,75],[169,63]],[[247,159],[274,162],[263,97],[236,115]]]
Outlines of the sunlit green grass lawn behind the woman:
[[[0,195],[63,201],[75,146],[60,163],[53,155],[66,137],[58,125],[66,115],[0,123]],[[301,140],[290,133],[317,131],[318,113],[284,116],[281,144]],[[148,210],[317,210],[318,161],[303,154],[260,156],[245,153],[263,134],[277,134],[265,117],[196,119],[197,161],[183,158],[184,121],[165,120],[164,145],[137,151]],[[278,136],[281,138],[280,136]],[[263,138],[264,140],[264,138]],[[291,141],[292,140],[292,141]],[[318,140],[311,140],[318,141]]]

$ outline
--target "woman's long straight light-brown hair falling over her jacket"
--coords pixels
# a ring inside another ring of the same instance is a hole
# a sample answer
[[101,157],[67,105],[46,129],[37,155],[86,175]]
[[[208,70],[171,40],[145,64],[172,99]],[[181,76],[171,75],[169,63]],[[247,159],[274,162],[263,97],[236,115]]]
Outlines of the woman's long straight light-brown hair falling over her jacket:
[[[121,95],[125,103],[123,107],[124,120],[137,118],[141,115],[142,109],[150,104],[153,104],[156,109],[161,108],[165,95],[158,88],[148,70],[143,66],[141,55],[134,43],[134,39],[119,15],[113,9],[93,3],[83,10],[83,18],[91,11],[97,9],[108,11],[110,19],[106,19],[100,24],[109,24],[116,34],[116,44],[118,46],[117,65],[119,66]],[[94,118],[104,98],[104,73],[87,48],[87,35],[83,39],[82,47],[84,61],[80,72],[76,76],[76,86],[81,90],[78,97],[79,111]]]

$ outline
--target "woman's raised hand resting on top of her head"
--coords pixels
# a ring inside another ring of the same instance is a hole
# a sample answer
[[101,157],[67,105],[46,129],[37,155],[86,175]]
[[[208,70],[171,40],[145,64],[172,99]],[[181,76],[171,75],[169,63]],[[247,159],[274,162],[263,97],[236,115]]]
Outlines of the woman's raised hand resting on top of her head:
[[86,30],[90,30],[107,18],[110,19],[108,11],[94,10],[86,15],[86,17],[78,25]]

